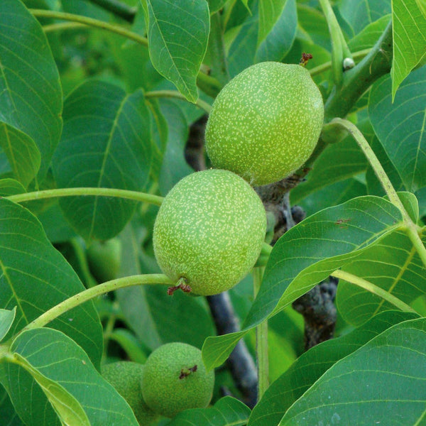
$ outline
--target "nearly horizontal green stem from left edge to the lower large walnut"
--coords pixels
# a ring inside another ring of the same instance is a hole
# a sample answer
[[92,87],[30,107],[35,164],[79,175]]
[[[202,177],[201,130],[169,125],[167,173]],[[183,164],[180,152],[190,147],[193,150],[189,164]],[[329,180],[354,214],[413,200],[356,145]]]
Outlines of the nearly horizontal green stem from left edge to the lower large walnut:
[[159,195],[146,194],[145,192],[116,190],[114,188],[60,188],[56,190],[43,190],[35,192],[26,192],[26,194],[10,195],[6,197],[13,202],[26,202],[34,200],[43,200],[44,198],[54,197],[75,197],[81,195],[92,195],[97,197],[119,197],[128,200],[140,202],[149,202],[155,205],[161,205],[163,197]]

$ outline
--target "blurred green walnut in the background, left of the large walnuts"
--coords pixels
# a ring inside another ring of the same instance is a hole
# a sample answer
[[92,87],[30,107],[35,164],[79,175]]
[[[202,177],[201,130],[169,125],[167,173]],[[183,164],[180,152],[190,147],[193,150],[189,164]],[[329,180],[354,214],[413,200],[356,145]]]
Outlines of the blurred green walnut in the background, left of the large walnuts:
[[121,264],[121,241],[94,241],[87,249],[90,273],[99,283],[117,278]]

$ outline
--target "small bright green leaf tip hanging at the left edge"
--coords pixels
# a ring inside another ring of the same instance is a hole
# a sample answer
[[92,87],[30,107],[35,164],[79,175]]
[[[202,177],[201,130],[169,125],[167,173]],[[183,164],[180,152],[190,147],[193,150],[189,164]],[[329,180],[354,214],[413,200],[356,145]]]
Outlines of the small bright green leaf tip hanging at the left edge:
[[0,121],[0,146],[9,160],[13,176],[27,187],[40,168],[40,151],[33,139]]

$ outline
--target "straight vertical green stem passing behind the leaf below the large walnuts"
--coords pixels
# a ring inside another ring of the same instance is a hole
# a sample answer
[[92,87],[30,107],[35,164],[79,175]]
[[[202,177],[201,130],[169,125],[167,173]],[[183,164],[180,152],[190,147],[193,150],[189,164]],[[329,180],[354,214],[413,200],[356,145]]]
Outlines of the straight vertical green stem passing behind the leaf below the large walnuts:
[[[253,269],[254,297],[258,294],[265,268]],[[258,367],[258,400],[269,386],[269,359],[268,359],[268,320],[261,322],[256,327],[256,359]]]

